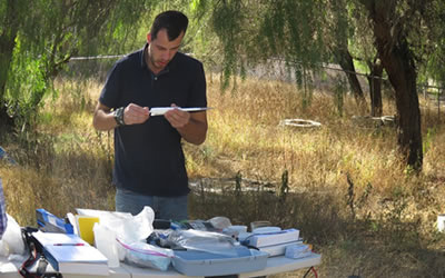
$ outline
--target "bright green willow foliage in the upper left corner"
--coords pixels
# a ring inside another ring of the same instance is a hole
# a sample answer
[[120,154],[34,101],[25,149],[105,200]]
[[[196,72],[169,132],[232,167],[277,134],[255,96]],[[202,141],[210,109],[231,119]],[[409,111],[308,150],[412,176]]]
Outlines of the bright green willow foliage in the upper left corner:
[[31,122],[69,59],[103,49],[119,26],[130,32],[147,3],[150,1],[2,1],[0,18],[8,23],[0,29],[2,118],[14,117],[26,126]]

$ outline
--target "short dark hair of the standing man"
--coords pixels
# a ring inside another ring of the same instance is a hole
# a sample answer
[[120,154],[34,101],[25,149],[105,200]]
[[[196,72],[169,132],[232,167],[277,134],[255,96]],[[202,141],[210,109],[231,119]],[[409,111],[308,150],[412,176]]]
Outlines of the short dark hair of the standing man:
[[165,11],[156,16],[151,26],[151,39],[156,39],[161,29],[167,29],[167,36],[170,41],[179,37],[184,31],[186,33],[188,18],[180,11]]

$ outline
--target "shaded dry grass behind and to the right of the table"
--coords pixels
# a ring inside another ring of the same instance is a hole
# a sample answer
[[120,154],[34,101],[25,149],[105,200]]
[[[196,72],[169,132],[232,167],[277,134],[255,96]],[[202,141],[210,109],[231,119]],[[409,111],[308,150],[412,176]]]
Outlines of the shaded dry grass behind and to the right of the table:
[[445,277],[445,235],[425,231],[421,221],[403,221],[387,211],[378,211],[375,219],[353,218],[345,197],[334,192],[279,197],[261,185],[236,188],[236,179],[196,182],[189,199],[191,218],[225,216],[234,225],[268,220],[298,228],[323,256],[320,277]]

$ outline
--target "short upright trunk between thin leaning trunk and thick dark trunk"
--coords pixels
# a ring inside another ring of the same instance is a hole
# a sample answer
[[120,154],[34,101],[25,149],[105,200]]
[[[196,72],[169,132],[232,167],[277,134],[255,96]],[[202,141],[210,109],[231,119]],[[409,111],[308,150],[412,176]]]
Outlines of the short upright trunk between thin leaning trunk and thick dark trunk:
[[369,83],[369,98],[370,98],[370,116],[382,117],[383,103],[382,103],[382,75],[383,64],[379,59],[375,59],[373,62],[368,62],[370,76],[368,77]]

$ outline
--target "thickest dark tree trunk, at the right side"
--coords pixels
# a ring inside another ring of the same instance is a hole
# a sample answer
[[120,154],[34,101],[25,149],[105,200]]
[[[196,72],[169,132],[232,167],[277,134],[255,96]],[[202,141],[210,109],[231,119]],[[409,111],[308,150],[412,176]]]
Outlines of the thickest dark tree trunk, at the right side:
[[398,145],[406,162],[422,170],[421,110],[416,88],[416,70],[413,54],[397,26],[392,26],[395,2],[366,1],[374,22],[374,36],[378,54],[396,93]]

